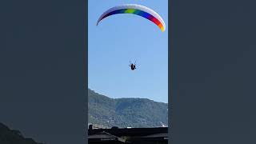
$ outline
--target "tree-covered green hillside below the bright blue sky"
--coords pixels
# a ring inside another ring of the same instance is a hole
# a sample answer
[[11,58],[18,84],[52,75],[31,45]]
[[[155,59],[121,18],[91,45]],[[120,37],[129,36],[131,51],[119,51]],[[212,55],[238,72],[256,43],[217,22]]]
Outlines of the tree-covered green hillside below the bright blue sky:
[[168,126],[168,104],[147,98],[108,98],[88,90],[89,123],[120,128]]

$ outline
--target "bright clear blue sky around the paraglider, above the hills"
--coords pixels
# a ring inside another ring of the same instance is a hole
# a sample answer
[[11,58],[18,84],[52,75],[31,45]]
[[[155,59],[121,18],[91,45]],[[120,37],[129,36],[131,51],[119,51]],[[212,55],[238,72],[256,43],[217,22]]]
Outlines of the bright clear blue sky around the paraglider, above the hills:
[[[166,23],[162,32],[134,14],[100,15],[120,4],[139,4],[156,11]],[[168,102],[168,1],[89,0],[88,86],[110,98],[149,98]],[[130,70],[129,61],[138,69]]]

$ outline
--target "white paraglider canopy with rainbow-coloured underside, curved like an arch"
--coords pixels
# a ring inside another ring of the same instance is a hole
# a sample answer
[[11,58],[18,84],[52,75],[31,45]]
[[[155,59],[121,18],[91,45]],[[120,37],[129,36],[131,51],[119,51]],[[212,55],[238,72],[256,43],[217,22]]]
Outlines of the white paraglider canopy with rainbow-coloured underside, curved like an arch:
[[136,14],[150,20],[151,22],[154,22],[154,24],[156,24],[162,31],[166,30],[166,24],[159,14],[154,12],[154,10],[147,8],[146,6],[140,6],[136,4],[114,6],[109,10],[106,10],[106,12],[103,13],[100,18],[98,18],[97,26],[98,23],[102,21],[102,19],[114,14]]

